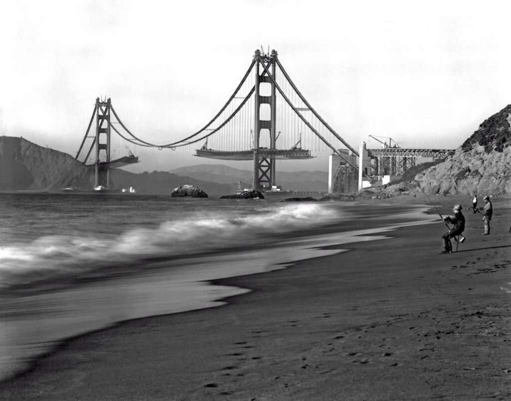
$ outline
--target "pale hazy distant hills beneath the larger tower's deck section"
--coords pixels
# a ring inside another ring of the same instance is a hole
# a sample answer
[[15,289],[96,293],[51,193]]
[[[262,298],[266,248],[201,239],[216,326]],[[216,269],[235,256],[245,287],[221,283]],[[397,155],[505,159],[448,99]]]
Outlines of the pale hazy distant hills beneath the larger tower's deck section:
[[[235,169],[223,164],[197,164],[180,167],[169,171],[169,173],[233,185],[238,185],[241,181],[244,187],[251,186],[253,179],[252,171]],[[285,190],[323,192],[328,190],[328,173],[324,171],[286,172],[277,170],[276,180],[277,184],[282,185]]]

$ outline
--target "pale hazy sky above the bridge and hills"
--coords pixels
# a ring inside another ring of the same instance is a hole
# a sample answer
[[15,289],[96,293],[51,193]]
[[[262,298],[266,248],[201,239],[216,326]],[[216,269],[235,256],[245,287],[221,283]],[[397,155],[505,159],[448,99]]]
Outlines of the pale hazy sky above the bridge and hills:
[[[75,155],[104,96],[136,136],[169,143],[216,114],[263,45],[353,147],[372,134],[455,148],[511,103],[510,12],[505,1],[3,1],[0,129]],[[327,170],[327,157],[295,168]],[[136,171],[212,163],[190,150],[141,160]]]

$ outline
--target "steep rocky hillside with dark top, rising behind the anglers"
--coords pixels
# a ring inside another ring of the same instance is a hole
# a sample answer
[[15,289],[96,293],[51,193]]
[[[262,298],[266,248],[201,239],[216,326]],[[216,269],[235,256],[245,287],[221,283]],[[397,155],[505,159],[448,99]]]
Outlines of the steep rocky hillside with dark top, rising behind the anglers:
[[428,194],[511,196],[511,105],[485,120],[444,162],[416,174],[408,182],[389,185],[400,191]]

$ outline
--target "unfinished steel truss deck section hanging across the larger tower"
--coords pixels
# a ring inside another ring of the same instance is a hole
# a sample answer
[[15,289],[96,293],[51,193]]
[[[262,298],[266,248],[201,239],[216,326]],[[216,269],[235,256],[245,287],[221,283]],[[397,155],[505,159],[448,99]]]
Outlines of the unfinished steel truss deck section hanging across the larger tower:
[[258,149],[241,151],[223,151],[214,149],[197,149],[196,156],[206,157],[208,159],[222,160],[253,160],[254,152],[260,157],[267,159],[285,160],[285,159],[312,159],[310,150],[304,149]]

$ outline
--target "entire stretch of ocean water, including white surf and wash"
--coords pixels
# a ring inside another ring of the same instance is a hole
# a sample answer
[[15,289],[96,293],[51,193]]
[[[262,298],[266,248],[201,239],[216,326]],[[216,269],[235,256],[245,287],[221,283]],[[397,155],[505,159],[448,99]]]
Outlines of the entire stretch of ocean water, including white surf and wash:
[[342,251],[329,245],[431,221],[421,207],[281,199],[0,194],[0,380],[66,338],[248,291],[211,280],[286,268]]

